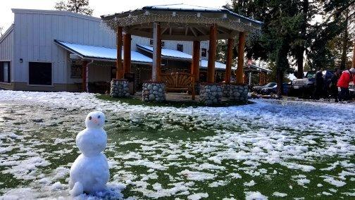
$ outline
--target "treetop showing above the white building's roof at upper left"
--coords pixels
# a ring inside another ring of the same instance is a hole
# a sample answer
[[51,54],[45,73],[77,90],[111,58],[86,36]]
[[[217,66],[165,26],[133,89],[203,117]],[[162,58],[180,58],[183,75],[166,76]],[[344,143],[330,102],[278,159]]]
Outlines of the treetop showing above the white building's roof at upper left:
[[92,15],[94,11],[89,7],[89,0],[67,0],[66,2],[61,0],[56,2],[54,8],[58,11],[70,11],[85,15]]

